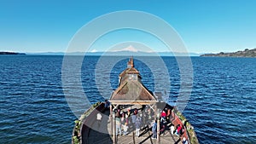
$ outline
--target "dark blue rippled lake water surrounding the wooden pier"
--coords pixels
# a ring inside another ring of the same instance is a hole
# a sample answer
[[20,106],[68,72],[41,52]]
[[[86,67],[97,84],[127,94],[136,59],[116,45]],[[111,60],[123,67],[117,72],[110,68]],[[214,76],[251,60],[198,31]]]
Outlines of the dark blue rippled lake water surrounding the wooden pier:
[[[114,58],[108,59],[111,62]],[[0,143],[71,143],[76,116],[63,93],[62,60],[63,56],[0,56]],[[86,57],[81,68],[84,93],[90,103],[105,96],[96,87],[97,60],[99,57]],[[120,60],[106,76],[111,79],[111,89],[117,87],[119,72],[125,69],[127,60]],[[154,58],[145,60],[154,62]],[[177,61],[173,57],[163,60],[170,72],[170,98],[176,101],[180,88]],[[192,57],[192,64],[193,89],[183,114],[195,127],[199,141],[255,143],[256,59]],[[137,59],[135,66],[143,84],[154,91],[157,84],[150,68]],[[102,66],[102,73],[108,68]],[[76,91],[76,85],[73,89]]]

